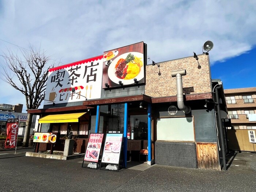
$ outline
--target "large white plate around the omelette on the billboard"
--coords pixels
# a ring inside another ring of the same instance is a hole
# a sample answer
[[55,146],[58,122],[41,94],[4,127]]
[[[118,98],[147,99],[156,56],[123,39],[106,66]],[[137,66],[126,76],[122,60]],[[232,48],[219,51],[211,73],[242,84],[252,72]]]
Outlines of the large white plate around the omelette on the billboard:
[[143,54],[142,53],[139,53],[139,52],[128,52],[128,53],[124,53],[124,54],[121,54],[120,56],[116,57],[116,59],[114,59],[112,61],[112,63],[109,65],[109,68],[108,68],[108,76],[109,76],[109,79],[112,80],[114,83],[116,84],[119,84],[119,81],[122,81],[122,83],[124,85],[128,85],[128,84],[133,84],[134,83],[134,80],[133,79],[119,79],[115,72],[116,72],[116,64],[117,64],[117,61],[119,59],[125,59],[127,57],[127,55],[131,53],[133,54],[134,56],[136,57],[139,57],[139,58],[142,58],[142,62],[143,62],[143,66],[140,67],[140,72],[137,76],[135,76],[133,79],[137,79],[137,81],[141,80],[143,77],[144,77],[144,61],[143,61]]

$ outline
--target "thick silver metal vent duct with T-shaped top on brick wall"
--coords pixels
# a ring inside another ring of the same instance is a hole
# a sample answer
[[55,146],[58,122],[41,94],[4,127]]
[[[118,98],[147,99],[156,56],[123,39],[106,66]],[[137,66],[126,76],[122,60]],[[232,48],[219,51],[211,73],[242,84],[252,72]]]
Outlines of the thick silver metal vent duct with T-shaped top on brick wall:
[[191,112],[191,108],[184,104],[183,87],[182,87],[182,76],[186,74],[187,74],[186,69],[181,69],[181,70],[171,72],[172,77],[176,77],[178,108],[184,111],[184,113],[188,114]]

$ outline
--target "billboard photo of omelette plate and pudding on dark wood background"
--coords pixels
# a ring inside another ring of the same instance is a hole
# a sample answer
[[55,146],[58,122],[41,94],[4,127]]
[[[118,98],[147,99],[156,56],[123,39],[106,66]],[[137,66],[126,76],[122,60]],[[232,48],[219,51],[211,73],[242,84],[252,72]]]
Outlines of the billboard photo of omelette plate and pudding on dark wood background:
[[104,52],[102,88],[144,83],[145,57],[143,42]]

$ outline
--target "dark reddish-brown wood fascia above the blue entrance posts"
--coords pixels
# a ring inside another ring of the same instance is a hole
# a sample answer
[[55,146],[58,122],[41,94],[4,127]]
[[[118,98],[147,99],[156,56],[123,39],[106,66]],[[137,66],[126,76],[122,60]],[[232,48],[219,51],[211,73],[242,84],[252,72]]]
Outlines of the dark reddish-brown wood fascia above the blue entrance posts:
[[123,103],[123,102],[132,102],[132,101],[146,101],[151,103],[151,97],[147,95],[133,95],[127,97],[116,97],[116,98],[108,98],[108,99],[97,99],[97,100],[89,100],[84,101],[83,105],[102,105],[109,103]]

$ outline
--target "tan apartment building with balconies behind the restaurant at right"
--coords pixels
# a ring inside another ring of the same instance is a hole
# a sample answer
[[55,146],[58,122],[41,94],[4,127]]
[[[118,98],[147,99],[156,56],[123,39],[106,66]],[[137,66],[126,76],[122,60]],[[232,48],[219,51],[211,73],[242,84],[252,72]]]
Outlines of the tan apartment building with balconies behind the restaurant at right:
[[256,87],[226,89],[224,93],[232,127],[256,129]]

